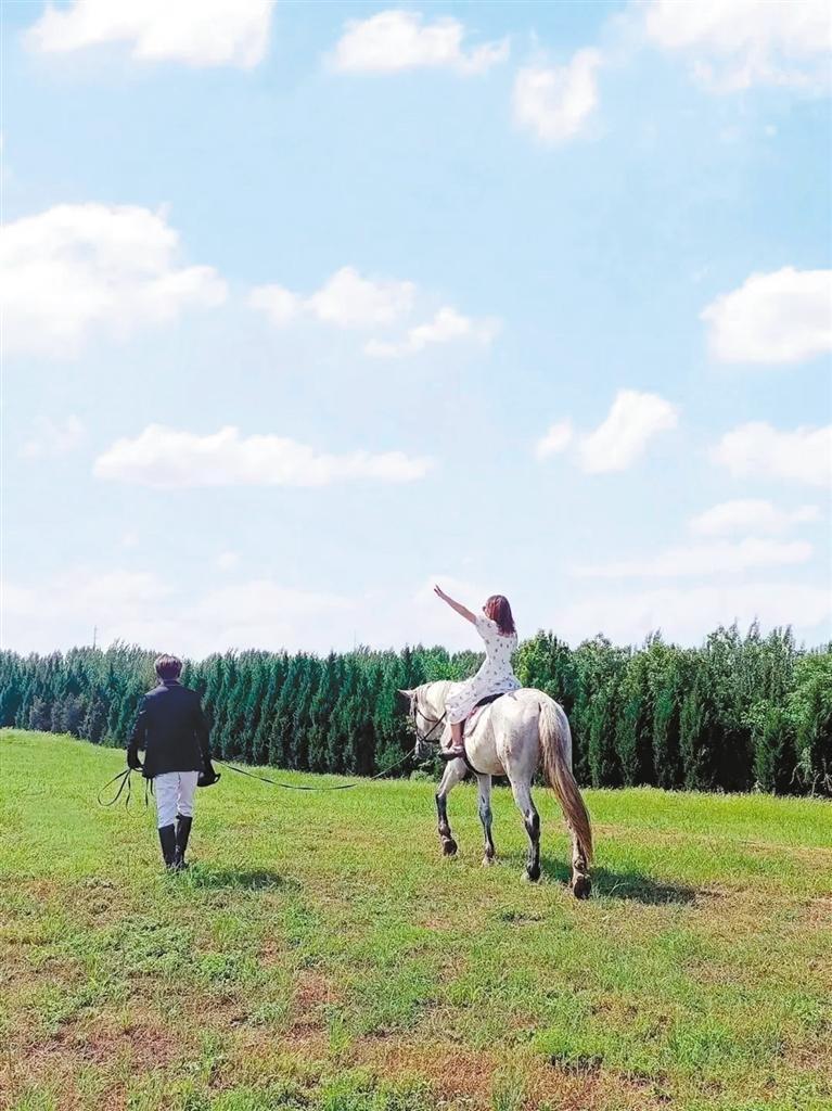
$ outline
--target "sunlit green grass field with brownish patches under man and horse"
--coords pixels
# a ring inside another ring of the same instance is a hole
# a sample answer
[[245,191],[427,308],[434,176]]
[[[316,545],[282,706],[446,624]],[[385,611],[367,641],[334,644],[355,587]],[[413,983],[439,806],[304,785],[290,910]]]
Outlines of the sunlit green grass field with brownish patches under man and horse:
[[542,789],[538,885],[503,789],[483,869],[471,787],[443,860],[429,782],[230,772],[166,875],[122,765],[0,734],[3,1109],[832,1108],[828,802],[589,791],[579,902]]

